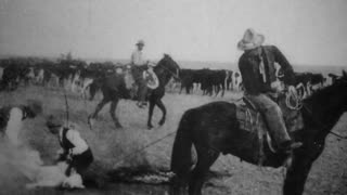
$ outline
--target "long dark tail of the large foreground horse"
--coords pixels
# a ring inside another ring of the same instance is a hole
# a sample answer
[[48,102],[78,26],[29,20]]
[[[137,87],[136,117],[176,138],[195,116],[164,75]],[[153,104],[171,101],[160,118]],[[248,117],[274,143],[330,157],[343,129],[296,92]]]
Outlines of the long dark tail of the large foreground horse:
[[179,176],[188,173],[193,165],[191,114],[191,110],[188,110],[182,116],[172,147],[171,171]]

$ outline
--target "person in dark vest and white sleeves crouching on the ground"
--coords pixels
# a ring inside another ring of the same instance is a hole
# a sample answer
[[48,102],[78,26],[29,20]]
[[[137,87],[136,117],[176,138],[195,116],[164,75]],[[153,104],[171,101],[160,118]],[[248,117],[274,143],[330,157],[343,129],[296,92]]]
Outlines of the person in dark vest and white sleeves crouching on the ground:
[[75,169],[85,179],[86,171],[93,161],[92,152],[73,125],[65,127],[62,123],[63,121],[53,116],[50,116],[47,121],[47,127],[51,133],[57,135],[62,147],[57,160],[68,164],[65,172],[67,177],[72,174],[72,169]]

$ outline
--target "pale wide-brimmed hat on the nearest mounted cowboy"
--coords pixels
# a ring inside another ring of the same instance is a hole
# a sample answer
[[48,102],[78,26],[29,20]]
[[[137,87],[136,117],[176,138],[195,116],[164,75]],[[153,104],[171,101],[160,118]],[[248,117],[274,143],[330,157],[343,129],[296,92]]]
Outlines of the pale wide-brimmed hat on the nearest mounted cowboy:
[[252,50],[261,46],[265,41],[264,35],[257,34],[254,29],[246,29],[243,38],[237,43],[239,50]]

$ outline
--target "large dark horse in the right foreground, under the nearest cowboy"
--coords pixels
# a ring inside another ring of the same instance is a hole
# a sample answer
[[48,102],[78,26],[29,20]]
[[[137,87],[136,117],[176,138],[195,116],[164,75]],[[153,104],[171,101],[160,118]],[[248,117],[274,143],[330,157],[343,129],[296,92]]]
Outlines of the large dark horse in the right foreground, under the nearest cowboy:
[[[287,168],[283,185],[284,195],[301,195],[312,162],[324,148],[326,135],[347,110],[347,75],[338,82],[317,91],[304,101],[301,114],[304,128],[294,131],[294,140],[303,146],[293,152],[293,160]],[[204,176],[219,154],[232,154],[253,165],[258,153],[259,139],[254,132],[241,130],[235,119],[236,105],[228,102],[214,102],[189,109],[181,118],[172,148],[171,170],[177,176],[175,192],[202,194]],[[197,162],[193,166],[191,147],[195,146]],[[281,167],[287,154],[274,154],[267,145],[264,147],[267,167]]]

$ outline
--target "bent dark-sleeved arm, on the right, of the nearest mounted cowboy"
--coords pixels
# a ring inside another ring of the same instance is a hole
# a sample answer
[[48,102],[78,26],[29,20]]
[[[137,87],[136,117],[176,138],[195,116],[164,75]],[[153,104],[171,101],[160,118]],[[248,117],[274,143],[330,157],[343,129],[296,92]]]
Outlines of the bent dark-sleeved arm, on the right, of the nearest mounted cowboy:
[[281,69],[283,69],[284,83],[293,86],[295,83],[295,75],[292,65],[277,47],[273,46],[272,50],[274,53],[274,61],[280,64]]

